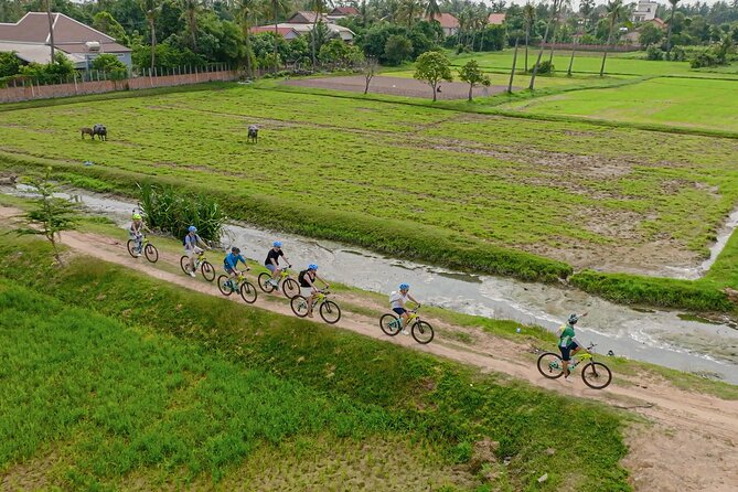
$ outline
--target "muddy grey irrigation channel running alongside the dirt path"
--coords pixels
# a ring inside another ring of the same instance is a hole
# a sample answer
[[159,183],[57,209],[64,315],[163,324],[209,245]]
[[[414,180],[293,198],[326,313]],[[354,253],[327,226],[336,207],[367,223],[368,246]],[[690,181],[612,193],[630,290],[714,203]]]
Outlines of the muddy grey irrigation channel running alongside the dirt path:
[[[0,191],[28,194],[22,185]],[[122,227],[129,225],[136,207],[133,203],[90,192],[74,190],[69,195],[78,196],[90,212],[105,215]],[[729,223],[736,218],[731,216]],[[729,234],[727,229],[724,232],[726,237]],[[564,286],[453,271],[332,240],[244,224],[227,225],[223,243],[237,245],[246,257],[261,264],[275,239],[284,242],[296,268],[315,263],[324,278],[383,293],[408,282],[421,302],[458,312],[510,319],[555,331],[570,312],[589,311],[577,332],[584,342],[596,343],[599,353],[612,351],[616,355],[738,384],[738,330],[727,324],[683,319],[677,311],[619,306]],[[724,245],[725,239],[720,240]],[[718,253],[713,250],[714,256]]]

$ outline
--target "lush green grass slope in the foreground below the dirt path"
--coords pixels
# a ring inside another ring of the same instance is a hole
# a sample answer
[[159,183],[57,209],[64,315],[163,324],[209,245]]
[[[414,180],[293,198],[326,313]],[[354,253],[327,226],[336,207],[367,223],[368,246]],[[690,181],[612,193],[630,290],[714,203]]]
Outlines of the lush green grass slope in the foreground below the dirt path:
[[[228,483],[263,473],[269,457],[295,470],[306,451],[357,441],[375,459],[399,446],[408,464],[460,463],[481,484],[473,442],[489,437],[512,457],[492,463],[494,489],[554,491],[579,478],[630,490],[622,416],[600,405],[90,258],[58,269],[38,240],[9,238],[0,257],[0,469],[11,475],[55,456],[46,483],[69,490]],[[31,264],[41,275],[28,275]],[[335,479],[311,477],[317,488]]]

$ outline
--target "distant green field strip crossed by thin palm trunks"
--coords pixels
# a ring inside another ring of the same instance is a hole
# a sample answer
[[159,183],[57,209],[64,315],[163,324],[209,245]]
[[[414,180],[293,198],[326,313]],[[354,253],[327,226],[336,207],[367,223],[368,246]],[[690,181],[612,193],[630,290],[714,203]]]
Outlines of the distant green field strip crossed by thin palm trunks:
[[[518,51],[517,63],[523,66],[523,52]],[[538,52],[528,52],[528,66],[535,63]],[[546,51],[542,60],[548,60],[549,52]],[[557,72],[566,73],[569,66],[570,51],[557,51],[554,53],[554,66]],[[689,67],[688,62],[654,62],[644,60],[645,53],[610,53],[606,64],[606,73],[610,75],[687,75],[687,76],[732,76],[738,77],[738,65],[720,67],[720,73],[695,71]],[[483,54],[463,54],[452,57],[454,65],[463,65],[468,60],[474,58],[479,65],[486,69],[510,71],[513,65],[513,50],[491,52]],[[574,60],[574,72],[599,74],[602,64],[602,53],[579,52]]]

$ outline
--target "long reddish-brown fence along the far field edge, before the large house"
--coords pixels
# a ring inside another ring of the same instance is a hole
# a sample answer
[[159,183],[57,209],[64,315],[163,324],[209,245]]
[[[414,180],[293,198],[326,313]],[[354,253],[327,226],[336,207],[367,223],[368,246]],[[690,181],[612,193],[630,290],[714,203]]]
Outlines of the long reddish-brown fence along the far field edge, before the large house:
[[207,68],[178,67],[165,71],[154,68],[153,71],[145,71],[138,76],[130,76],[120,81],[106,79],[105,74],[100,75],[100,73],[97,74],[97,79],[95,79],[93,73],[88,73],[79,79],[76,76],[69,78],[69,82],[52,85],[34,84],[32,81],[18,82],[14,87],[0,88],[0,103],[19,103],[51,97],[111,93],[115,90],[140,90],[214,81],[234,81],[237,78],[237,73],[225,65],[221,65]]

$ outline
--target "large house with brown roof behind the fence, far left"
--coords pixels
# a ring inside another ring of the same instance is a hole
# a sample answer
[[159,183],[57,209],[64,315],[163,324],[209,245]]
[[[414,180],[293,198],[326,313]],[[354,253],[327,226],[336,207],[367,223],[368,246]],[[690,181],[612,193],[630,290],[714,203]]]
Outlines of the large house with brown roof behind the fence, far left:
[[[103,53],[114,54],[131,67],[131,50],[82,22],[52,13],[54,47],[74,63],[75,68],[87,68],[89,62]],[[15,23],[0,23],[0,52],[15,52],[26,63],[51,61],[51,36],[46,12],[28,12]]]

